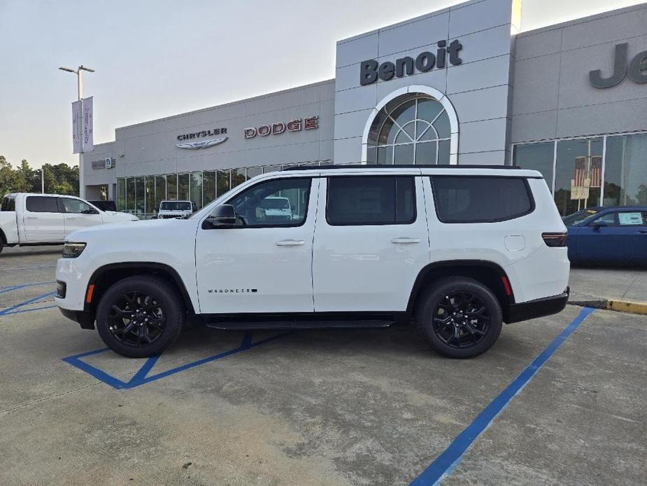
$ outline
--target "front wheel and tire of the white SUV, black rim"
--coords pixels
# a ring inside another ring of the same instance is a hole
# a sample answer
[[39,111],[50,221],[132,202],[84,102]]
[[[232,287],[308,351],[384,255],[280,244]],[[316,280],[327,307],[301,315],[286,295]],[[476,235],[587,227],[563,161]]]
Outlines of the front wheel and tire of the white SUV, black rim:
[[161,353],[178,338],[184,308],[176,289],[158,277],[138,275],[113,284],[97,307],[97,331],[128,358]]

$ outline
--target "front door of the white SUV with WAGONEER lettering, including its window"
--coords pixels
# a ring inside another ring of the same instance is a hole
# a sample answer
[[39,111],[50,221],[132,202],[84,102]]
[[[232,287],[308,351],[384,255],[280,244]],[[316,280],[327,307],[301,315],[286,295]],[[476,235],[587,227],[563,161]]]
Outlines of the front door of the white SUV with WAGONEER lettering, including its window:
[[[233,227],[197,230],[196,278],[204,314],[313,312],[312,244],[319,179],[274,177],[236,193]],[[292,218],[268,216],[288,197]]]

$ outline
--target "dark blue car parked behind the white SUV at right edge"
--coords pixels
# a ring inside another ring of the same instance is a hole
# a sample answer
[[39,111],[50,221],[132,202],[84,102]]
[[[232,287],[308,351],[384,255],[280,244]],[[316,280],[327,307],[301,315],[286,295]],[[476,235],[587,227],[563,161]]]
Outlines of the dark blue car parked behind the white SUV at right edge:
[[562,219],[571,263],[647,265],[647,207],[590,207]]

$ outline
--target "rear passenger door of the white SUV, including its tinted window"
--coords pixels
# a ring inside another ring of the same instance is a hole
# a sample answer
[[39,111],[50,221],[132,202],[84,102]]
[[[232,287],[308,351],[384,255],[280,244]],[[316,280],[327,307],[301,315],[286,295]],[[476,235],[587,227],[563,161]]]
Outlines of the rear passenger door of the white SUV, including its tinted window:
[[427,263],[420,176],[322,179],[313,248],[316,312],[404,311]]

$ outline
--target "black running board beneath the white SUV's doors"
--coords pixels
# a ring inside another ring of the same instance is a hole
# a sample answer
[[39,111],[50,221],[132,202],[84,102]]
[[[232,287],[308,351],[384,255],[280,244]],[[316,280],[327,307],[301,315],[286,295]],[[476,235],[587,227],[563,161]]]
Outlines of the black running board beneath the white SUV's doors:
[[263,330],[295,330],[295,329],[381,329],[395,324],[394,321],[262,321],[237,322],[218,321],[206,322],[205,326],[223,331],[263,331]]

